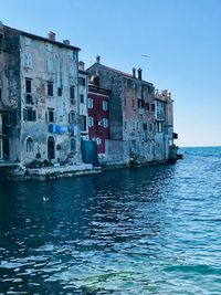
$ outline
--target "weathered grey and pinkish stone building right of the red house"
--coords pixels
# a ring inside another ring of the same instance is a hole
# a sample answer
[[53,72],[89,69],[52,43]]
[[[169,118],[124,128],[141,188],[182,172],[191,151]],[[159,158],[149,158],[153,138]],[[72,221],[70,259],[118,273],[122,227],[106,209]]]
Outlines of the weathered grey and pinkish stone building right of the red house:
[[127,74],[101,64],[99,56],[87,72],[98,75],[99,86],[110,91],[106,161],[169,160],[173,146],[170,94],[156,95],[154,85],[143,80],[141,69]]

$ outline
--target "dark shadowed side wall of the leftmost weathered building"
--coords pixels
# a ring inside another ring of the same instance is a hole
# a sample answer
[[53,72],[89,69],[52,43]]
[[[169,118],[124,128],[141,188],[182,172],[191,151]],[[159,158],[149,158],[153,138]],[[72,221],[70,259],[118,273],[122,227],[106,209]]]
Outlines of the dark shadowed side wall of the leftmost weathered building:
[[20,48],[19,33],[7,27],[1,28],[0,87],[2,92],[0,112],[9,116],[9,136],[4,137],[9,138],[9,158],[7,160],[17,161],[21,158]]

